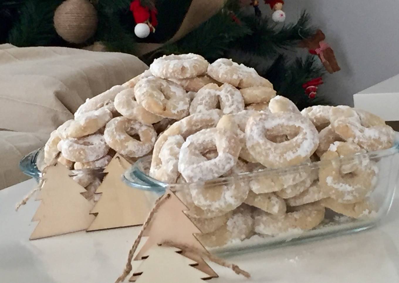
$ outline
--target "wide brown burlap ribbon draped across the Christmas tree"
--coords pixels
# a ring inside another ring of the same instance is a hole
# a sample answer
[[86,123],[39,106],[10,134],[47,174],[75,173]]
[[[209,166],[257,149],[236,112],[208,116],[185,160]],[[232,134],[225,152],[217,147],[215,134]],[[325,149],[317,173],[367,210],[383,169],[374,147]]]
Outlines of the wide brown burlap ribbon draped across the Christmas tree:
[[183,38],[192,30],[198,28],[203,22],[209,20],[214,14],[223,8],[226,0],[193,0],[190,8],[188,8],[186,17],[176,34],[167,42],[163,44],[158,43],[140,43],[137,44],[136,55],[141,56],[151,51],[154,51],[164,44],[176,42]]

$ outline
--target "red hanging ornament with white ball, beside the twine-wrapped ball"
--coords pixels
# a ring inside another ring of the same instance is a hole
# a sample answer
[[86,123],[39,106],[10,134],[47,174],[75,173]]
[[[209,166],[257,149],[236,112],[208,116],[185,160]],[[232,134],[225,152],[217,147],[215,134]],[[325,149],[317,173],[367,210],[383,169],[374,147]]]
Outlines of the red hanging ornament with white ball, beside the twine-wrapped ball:
[[148,8],[141,5],[140,0],[134,0],[130,4],[130,11],[133,13],[136,26],[134,27],[134,34],[138,38],[146,38],[150,32],[155,32],[155,27],[158,26],[156,15],[158,11],[156,8]]

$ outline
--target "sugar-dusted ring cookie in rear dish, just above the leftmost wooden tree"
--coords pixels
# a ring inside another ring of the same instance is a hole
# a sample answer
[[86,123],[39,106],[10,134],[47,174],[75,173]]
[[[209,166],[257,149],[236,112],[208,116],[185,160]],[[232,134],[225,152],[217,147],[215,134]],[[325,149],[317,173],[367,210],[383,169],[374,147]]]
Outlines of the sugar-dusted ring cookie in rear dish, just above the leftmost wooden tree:
[[58,143],[62,155],[74,162],[90,162],[107,154],[109,147],[101,135],[91,135],[79,139],[66,139]]

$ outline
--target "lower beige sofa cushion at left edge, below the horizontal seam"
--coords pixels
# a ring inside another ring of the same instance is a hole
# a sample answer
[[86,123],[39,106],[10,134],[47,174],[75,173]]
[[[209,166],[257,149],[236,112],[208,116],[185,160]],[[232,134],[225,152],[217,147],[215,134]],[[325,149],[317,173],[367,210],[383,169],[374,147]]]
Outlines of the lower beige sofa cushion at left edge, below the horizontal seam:
[[28,180],[19,170],[19,162],[29,152],[43,146],[48,134],[0,131],[0,190]]

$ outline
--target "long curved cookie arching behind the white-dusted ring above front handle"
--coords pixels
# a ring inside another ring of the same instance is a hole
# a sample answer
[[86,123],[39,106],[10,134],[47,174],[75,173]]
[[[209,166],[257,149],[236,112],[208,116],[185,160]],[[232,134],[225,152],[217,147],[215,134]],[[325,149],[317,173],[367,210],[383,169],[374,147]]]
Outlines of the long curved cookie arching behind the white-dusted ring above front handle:
[[152,153],[150,174],[154,176],[155,171],[162,166],[162,160],[159,157],[160,151],[164,143],[171,136],[180,135],[184,139],[188,136],[207,128],[213,128],[221,117],[220,110],[211,110],[206,113],[197,113],[190,115],[180,121],[177,121],[171,125],[166,131],[164,131],[156,141],[154,145],[154,151]]

